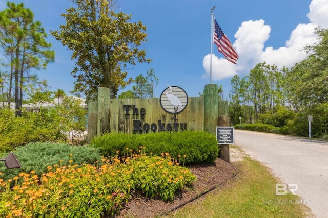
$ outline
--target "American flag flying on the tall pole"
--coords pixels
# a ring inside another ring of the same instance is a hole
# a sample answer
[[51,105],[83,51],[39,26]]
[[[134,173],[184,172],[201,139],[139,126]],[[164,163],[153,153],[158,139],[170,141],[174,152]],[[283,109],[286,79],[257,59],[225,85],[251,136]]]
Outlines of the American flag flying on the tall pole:
[[234,50],[231,42],[229,41],[226,34],[223,33],[220,26],[217,24],[216,20],[214,19],[214,44],[217,45],[217,50],[221,52],[224,57],[231,63],[236,64],[237,59],[239,56],[237,52]]

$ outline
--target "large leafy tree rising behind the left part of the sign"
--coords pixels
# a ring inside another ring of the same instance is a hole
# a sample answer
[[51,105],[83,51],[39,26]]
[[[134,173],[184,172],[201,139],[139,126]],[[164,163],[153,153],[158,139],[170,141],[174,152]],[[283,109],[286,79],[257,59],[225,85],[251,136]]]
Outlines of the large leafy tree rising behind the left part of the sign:
[[[150,63],[146,51],[140,50],[146,42],[146,26],[141,21],[131,22],[132,16],[115,13],[115,1],[72,0],[76,8],[61,14],[66,20],[59,30],[50,33],[73,51],[76,67],[71,72],[77,83],[85,85],[86,97],[97,94],[98,87],[111,89],[116,98],[119,87],[127,81],[127,68],[136,62]],[[90,99],[92,99],[90,98]]]

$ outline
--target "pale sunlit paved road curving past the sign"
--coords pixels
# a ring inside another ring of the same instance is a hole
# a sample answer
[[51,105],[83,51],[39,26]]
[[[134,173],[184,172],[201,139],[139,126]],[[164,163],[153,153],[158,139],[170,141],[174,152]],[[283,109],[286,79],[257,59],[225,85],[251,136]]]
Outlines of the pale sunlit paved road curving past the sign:
[[297,184],[296,194],[317,218],[328,217],[328,142],[236,129],[234,133],[237,147],[271,168],[282,183]]

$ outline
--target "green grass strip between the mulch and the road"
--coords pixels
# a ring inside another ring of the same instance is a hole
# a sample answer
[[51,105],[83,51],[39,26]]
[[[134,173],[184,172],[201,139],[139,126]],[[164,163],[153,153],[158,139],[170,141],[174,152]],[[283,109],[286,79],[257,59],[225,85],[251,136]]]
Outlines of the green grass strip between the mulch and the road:
[[314,217],[310,200],[292,193],[276,195],[276,183],[281,182],[267,167],[250,157],[233,164],[240,174],[228,186],[166,217]]

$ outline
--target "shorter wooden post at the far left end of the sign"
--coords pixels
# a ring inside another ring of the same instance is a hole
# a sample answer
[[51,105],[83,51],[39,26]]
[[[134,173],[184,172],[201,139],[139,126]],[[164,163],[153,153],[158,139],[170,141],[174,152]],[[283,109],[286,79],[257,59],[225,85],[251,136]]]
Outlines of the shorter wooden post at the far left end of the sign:
[[98,113],[98,102],[88,103],[88,137],[87,142],[90,143],[91,139],[97,134],[97,113]]

